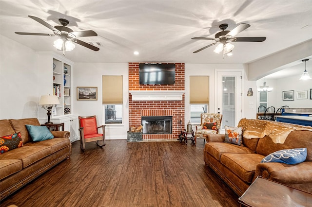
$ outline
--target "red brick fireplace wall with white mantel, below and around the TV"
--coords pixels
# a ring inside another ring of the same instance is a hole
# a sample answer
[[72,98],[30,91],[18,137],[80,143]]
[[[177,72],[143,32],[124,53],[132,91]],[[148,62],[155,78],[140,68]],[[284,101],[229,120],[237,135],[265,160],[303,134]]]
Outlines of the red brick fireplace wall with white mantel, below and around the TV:
[[[129,125],[141,125],[142,116],[172,116],[172,134],[143,134],[143,139],[178,138],[180,120],[184,128],[184,63],[176,63],[175,81],[174,85],[140,85],[139,63],[129,63]],[[133,98],[132,91],[141,98]]]

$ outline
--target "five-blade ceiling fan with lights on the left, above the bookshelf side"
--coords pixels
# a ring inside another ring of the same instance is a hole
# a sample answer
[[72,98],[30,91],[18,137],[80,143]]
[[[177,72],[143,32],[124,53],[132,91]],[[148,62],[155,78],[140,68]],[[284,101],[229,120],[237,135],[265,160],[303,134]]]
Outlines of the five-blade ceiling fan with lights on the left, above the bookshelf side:
[[77,43],[79,45],[82,45],[86,48],[89,48],[93,51],[98,51],[99,48],[86,43],[84,41],[81,41],[77,39],[77,37],[85,37],[85,36],[98,36],[98,34],[92,30],[86,30],[86,31],[79,31],[79,32],[74,32],[72,29],[66,27],[69,23],[68,20],[60,18],[59,22],[62,25],[57,25],[57,26],[52,26],[45,22],[44,20],[34,17],[34,16],[28,16],[35,21],[38,21],[40,24],[43,26],[49,28],[50,30],[53,31],[54,34],[44,34],[44,33],[21,33],[21,32],[16,32],[18,35],[39,35],[39,36],[59,36],[60,38],[56,41],[54,41],[54,47],[56,47],[58,50],[63,51],[63,55],[65,55],[65,51],[71,51],[75,48],[75,44]]

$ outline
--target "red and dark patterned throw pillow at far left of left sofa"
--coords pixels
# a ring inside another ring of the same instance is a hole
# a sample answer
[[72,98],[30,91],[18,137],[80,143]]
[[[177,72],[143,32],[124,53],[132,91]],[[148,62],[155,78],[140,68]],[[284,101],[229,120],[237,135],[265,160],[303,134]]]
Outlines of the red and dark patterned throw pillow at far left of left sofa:
[[23,146],[20,132],[0,138],[0,154]]

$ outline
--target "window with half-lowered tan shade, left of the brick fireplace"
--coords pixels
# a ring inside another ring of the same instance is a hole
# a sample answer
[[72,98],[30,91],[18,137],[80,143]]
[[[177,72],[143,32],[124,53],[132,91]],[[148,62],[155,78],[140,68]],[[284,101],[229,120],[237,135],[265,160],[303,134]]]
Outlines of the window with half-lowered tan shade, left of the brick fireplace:
[[122,75],[102,76],[102,102],[104,123],[122,123],[123,85]]

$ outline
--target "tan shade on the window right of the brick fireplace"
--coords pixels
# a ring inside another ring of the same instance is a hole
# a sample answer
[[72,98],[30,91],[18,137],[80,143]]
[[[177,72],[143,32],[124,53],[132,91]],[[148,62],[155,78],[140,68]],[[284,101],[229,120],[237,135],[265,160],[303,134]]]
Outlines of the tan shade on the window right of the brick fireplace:
[[190,76],[190,104],[209,104],[209,76]]

